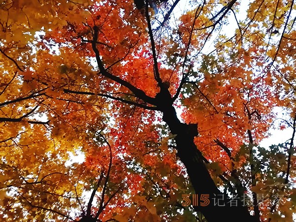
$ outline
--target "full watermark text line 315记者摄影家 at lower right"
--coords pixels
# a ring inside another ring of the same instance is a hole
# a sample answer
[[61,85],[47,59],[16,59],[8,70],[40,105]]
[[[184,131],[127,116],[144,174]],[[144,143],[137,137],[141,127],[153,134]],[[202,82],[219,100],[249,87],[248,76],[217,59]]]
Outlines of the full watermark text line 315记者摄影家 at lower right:
[[[191,197],[191,198],[190,198]],[[281,197],[283,195],[273,195],[271,197],[272,202],[274,204],[282,204]],[[226,199],[227,198],[227,199]],[[265,199],[267,199],[267,195],[264,194],[257,194],[257,206],[260,205]],[[225,203],[230,206],[238,206],[239,203],[242,203],[243,206],[252,207],[255,206],[254,200],[250,198],[246,193],[240,198],[238,195],[233,196],[232,198],[225,197],[224,194],[214,194],[213,198],[210,198],[209,194],[182,194],[182,206],[188,207],[189,205],[192,206],[201,206],[206,207],[210,204],[210,199],[213,201],[214,206],[223,207]],[[228,205],[228,206],[229,206]]]

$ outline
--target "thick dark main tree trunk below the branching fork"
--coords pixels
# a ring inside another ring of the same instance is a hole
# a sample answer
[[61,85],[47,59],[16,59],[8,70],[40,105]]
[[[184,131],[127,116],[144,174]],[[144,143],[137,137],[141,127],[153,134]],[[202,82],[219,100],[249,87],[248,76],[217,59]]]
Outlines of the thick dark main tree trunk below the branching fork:
[[242,206],[238,198],[234,199],[231,202],[232,206],[230,206],[231,199],[228,196],[223,196],[223,193],[217,188],[206,169],[201,152],[193,142],[194,137],[198,134],[197,126],[180,122],[170,100],[164,100],[165,94],[168,95],[167,93],[162,93],[162,97],[158,98],[161,99],[158,108],[163,112],[163,120],[168,124],[171,133],[177,134],[175,138],[178,149],[177,155],[187,169],[195,194],[198,194],[198,204],[200,205],[201,194],[209,194],[210,204],[197,206],[195,209],[202,212],[208,222],[253,222],[253,217],[250,216],[248,209]]

